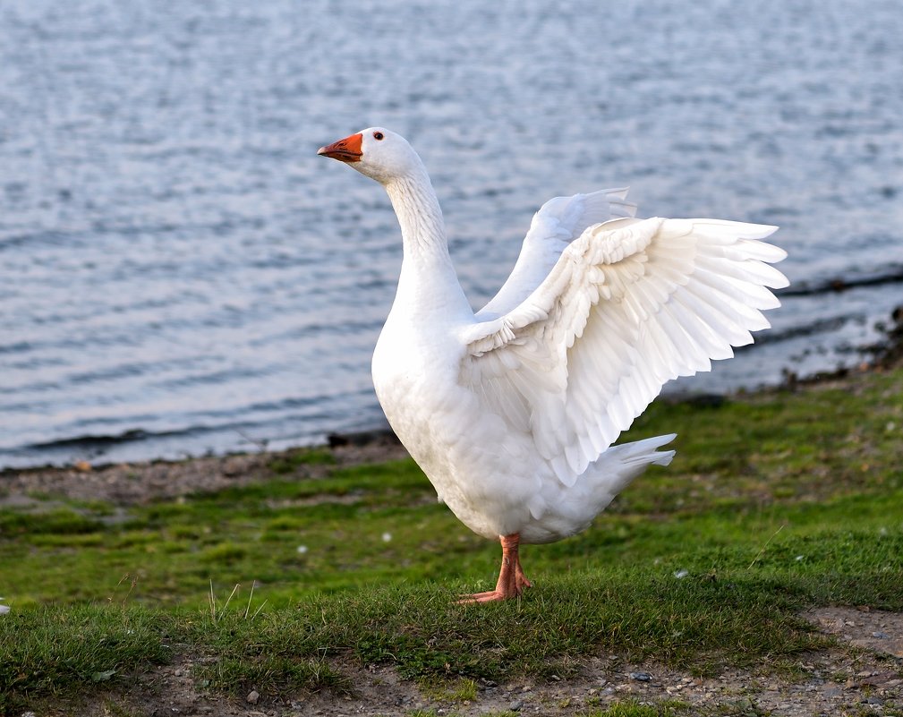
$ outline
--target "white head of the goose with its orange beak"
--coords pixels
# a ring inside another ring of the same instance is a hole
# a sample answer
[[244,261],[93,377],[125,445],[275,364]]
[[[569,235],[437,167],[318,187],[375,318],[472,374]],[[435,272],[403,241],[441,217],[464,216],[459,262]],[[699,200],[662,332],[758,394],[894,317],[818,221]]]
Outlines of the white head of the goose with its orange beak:
[[407,144],[407,140],[383,127],[362,129],[355,135],[321,147],[317,154],[349,164],[381,184],[388,184],[423,167],[420,157]]

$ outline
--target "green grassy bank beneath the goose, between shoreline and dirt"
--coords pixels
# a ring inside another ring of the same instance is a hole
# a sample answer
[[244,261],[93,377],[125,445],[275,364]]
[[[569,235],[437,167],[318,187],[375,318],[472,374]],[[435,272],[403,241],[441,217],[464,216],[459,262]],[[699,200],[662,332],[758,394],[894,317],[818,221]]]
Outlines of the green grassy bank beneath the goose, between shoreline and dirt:
[[823,645],[798,617],[809,606],[903,610],[901,386],[898,370],[653,405],[628,438],[679,432],[671,467],[583,535],[522,548],[535,589],[479,608],[454,598],[494,582],[498,546],[411,461],[297,480],[331,458],[292,452],[245,488],[2,508],[0,712],[125,684],[180,650],[215,657],[195,677],[231,694],[341,689],[340,658],[441,677],[461,700],[476,679],[568,675],[600,649],[697,674],[777,665]]

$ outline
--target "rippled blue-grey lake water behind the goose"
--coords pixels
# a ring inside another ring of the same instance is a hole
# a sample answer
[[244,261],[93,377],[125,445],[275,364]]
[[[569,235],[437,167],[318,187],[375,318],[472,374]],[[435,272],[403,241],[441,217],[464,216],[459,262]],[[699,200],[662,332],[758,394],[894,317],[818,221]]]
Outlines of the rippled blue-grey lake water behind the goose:
[[[7,0],[0,466],[381,425],[396,220],[315,155],[364,126],[424,156],[477,307],[543,201],[626,183],[781,225],[796,286],[900,274],[901,36],[896,0]],[[855,363],[901,287],[787,296],[690,387]]]

